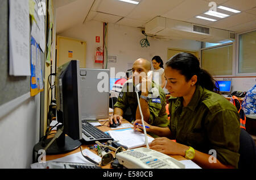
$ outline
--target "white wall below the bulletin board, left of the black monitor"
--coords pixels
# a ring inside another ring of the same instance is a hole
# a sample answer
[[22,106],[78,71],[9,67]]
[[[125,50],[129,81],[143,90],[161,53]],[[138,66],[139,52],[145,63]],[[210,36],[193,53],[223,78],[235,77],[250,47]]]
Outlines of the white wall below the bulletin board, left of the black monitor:
[[40,94],[0,117],[0,168],[30,168],[39,124]]

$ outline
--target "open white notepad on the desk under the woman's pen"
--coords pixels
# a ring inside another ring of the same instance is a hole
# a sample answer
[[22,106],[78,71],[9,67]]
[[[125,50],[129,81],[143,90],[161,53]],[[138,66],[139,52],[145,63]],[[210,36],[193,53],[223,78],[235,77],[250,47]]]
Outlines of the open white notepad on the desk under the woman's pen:
[[[134,129],[127,129],[125,131],[108,131],[109,135],[113,137],[119,144],[127,146],[128,149],[138,148],[146,145],[144,134]],[[147,136],[148,144],[150,144],[154,138]]]

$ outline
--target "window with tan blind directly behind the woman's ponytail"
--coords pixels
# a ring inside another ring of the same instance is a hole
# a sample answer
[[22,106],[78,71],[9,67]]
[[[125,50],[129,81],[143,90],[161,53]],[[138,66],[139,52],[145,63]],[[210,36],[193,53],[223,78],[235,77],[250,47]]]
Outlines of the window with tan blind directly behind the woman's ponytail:
[[201,49],[201,68],[212,76],[232,76],[233,43]]

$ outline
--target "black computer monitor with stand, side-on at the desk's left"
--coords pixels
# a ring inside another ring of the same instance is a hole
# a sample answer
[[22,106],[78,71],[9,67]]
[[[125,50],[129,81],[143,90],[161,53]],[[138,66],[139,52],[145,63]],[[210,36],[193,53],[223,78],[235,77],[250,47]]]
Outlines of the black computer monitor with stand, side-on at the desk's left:
[[[67,153],[81,146],[81,93],[79,78],[79,61],[72,60],[57,69],[55,78],[57,129],[63,128],[63,133],[46,150],[46,154]],[[65,136],[68,135],[68,136]],[[36,152],[44,149],[52,139],[40,141],[35,145]]]

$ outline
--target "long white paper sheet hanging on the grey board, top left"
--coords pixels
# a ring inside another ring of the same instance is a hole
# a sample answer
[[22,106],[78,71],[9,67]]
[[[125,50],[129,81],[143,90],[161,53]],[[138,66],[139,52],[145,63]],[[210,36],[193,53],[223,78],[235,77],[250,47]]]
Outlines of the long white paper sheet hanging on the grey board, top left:
[[31,76],[28,0],[9,0],[9,5],[9,72],[11,76]]

